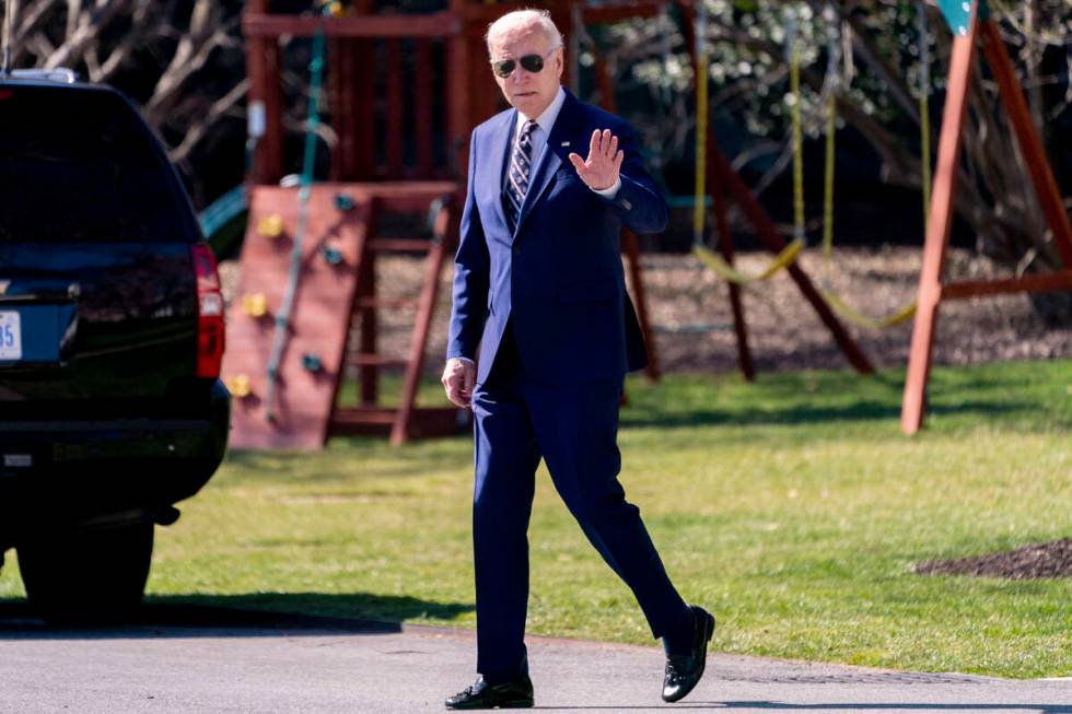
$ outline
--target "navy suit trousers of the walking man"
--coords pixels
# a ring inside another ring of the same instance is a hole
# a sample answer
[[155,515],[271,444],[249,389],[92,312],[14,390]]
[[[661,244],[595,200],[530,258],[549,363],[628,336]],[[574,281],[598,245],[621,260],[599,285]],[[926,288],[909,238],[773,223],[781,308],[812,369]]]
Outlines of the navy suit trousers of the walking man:
[[618,482],[621,388],[620,377],[567,386],[526,378],[508,324],[491,372],[475,389],[477,671],[492,683],[527,672],[528,519],[541,457],[584,535],[633,592],[652,634],[692,627]]

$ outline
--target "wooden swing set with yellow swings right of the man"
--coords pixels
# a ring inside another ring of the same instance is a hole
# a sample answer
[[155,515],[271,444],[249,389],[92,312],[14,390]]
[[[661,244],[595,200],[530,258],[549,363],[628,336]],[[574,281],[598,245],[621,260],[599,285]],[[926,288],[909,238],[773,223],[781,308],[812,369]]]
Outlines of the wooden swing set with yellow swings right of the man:
[[[696,197],[694,215],[694,253],[716,274],[727,281],[730,300],[733,308],[734,324],[737,332],[739,364],[746,378],[751,378],[754,370],[747,344],[747,330],[744,325],[741,308],[741,288],[767,280],[785,270],[796,280],[802,293],[830,327],[850,362],[861,373],[871,372],[866,358],[853,354],[847,344],[847,337],[839,337],[832,326],[836,315],[846,321],[867,329],[882,329],[899,325],[914,317],[908,375],[901,408],[901,429],[906,434],[914,434],[923,425],[925,417],[925,394],[929,381],[931,359],[933,353],[934,332],[936,329],[937,311],[943,300],[963,300],[983,297],[1009,293],[1036,293],[1072,291],[1072,226],[1064,209],[1057,182],[1047,160],[1038,132],[1032,121],[1030,114],[1024,100],[1023,87],[1016,80],[1012,61],[1005,49],[998,25],[990,14],[986,0],[940,0],[939,7],[954,33],[954,44],[948,80],[946,82],[945,112],[942,121],[942,133],[939,140],[937,166],[935,177],[931,175],[931,136],[929,116],[929,94],[931,60],[928,54],[928,25],[924,3],[917,2],[918,34],[920,37],[921,57],[919,92],[920,124],[921,124],[921,157],[923,186],[923,216],[925,243],[923,249],[923,266],[920,272],[918,297],[913,303],[899,307],[886,316],[873,317],[848,305],[836,293],[828,289],[815,291],[807,281],[796,262],[801,250],[805,247],[804,231],[804,198],[803,198],[803,148],[802,117],[800,102],[800,51],[796,44],[796,33],[790,17],[786,44],[790,65],[790,83],[793,96],[792,104],[792,150],[793,150],[793,194],[794,194],[794,236],[792,243],[786,243],[773,231],[772,224],[758,202],[750,197],[743,186],[739,176],[729,166],[714,141],[708,140],[708,101],[707,101],[707,55],[702,38],[704,36],[706,17],[703,3],[696,4],[697,11],[692,23],[696,28],[691,52],[697,78],[697,169]],[[846,83],[841,85],[838,79],[837,66],[840,57],[840,43],[836,12],[827,8],[828,20],[828,69],[826,83],[823,87],[826,108],[826,166],[824,187],[824,220],[823,220],[823,256],[824,273],[828,278],[831,270],[831,250],[834,236],[834,155],[835,132],[837,127],[837,98],[843,92],[844,85],[851,81],[851,56],[843,59],[847,66]],[[968,105],[968,89],[971,73],[976,70],[976,49],[981,44],[986,59],[990,66],[993,79],[999,87],[1002,106],[1013,127],[1017,144],[1027,165],[1028,173],[1039,203],[1046,214],[1053,242],[1058,247],[1063,262],[1063,269],[1050,273],[1026,274],[1007,279],[972,280],[944,282],[943,272],[945,255],[948,247],[949,232],[953,222],[953,202],[956,184],[960,178],[959,152],[964,129],[964,118]],[[714,160],[712,167],[711,159]],[[712,169],[713,168],[713,169]],[[712,178],[714,180],[712,180]],[[721,183],[720,183],[721,182]],[[933,183],[933,189],[932,189]],[[715,209],[715,226],[718,231],[718,247],[721,256],[714,253],[703,238],[704,197],[708,184],[712,185],[713,203]],[[744,212],[758,229],[760,238],[767,248],[774,253],[769,266],[757,274],[744,274],[733,267],[733,245],[729,232],[729,221],[725,215],[723,190],[729,191],[741,202]],[[824,281],[826,282],[826,281]],[[818,301],[818,302],[817,302]]]

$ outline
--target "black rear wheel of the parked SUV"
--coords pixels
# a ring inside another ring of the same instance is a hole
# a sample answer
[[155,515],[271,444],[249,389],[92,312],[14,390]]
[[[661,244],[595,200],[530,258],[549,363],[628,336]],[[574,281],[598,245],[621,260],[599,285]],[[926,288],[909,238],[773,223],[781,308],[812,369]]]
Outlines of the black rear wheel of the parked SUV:
[[153,524],[66,531],[16,548],[34,610],[53,624],[121,621],[141,604]]

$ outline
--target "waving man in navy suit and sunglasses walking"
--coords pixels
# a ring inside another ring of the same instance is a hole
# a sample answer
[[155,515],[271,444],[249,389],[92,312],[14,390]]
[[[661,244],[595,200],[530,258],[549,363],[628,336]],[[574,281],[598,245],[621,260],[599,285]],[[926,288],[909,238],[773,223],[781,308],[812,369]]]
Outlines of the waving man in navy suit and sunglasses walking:
[[616,443],[622,379],[646,362],[619,234],[662,231],[668,209],[632,128],[561,86],[562,38],[547,12],[503,15],[487,39],[513,108],[473,131],[443,372],[447,397],[476,423],[480,676],[446,706],[533,705],[527,530],[540,458],[663,639],[663,699],[677,701],[703,674],[714,618],[667,577],[618,482]]

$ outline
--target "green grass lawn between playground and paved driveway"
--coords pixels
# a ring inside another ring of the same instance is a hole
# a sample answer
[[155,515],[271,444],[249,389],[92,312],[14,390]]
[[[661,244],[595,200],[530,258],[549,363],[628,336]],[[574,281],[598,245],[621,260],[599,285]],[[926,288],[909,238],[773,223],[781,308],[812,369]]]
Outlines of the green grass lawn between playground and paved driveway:
[[[713,646],[927,671],[1072,675],[1072,581],[924,577],[917,562],[1072,535],[1072,362],[936,370],[925,432],[899,374],[629,384],[621,480]],[[233,454],[159,529],[151,597],[470,628],[468,437]],[[533,633],[650,643],[546,472]],[[0,596],[20,597],[14,559]]]

